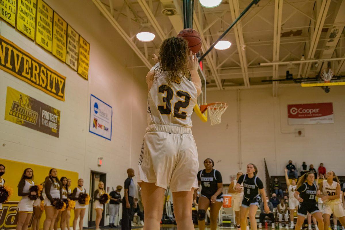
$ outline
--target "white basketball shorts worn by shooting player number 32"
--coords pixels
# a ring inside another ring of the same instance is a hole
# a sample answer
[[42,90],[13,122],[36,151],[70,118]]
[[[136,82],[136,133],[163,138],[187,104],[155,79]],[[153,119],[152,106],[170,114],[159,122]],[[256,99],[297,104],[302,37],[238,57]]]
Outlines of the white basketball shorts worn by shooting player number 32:
[[171,192],[198,188],[198,151],[190,128],[149,125],[138,165],[139,183],[170,186]]

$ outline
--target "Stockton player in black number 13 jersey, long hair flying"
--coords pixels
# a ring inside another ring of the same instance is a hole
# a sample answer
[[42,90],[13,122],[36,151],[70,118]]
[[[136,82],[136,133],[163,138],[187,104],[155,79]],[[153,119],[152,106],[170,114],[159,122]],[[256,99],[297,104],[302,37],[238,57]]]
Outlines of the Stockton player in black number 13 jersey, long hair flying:
[[318,209],[315,199],[317,187],[314,180],[313,172],[307,172],[298,179],[297,190],[294,193],[295,198],[299,201],[295,230],[300,230],[308,212],[315,217],[319,230],[324,230],[322,213]]

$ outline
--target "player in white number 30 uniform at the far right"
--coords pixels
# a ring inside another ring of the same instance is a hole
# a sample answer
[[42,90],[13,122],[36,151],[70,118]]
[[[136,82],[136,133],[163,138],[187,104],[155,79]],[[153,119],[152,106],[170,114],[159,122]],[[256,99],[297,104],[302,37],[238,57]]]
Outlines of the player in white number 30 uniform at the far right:
[[342,226],[345,226],[345,210],[341,205],[340,199],[340,182],[334,171],[327,172],[327,180],[320,183],[317,191],[317,197],[321,198],[322,213],[324,218],[324,229],[327,229],[330,225],[330,217],[332,213],[338,217]]

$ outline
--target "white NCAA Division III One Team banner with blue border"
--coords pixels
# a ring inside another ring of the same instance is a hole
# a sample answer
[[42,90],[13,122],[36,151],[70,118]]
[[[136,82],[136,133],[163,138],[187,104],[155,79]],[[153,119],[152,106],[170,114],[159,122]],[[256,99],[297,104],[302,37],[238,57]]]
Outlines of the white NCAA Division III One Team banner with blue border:
[[91,94],[90,133],[111,140],[112,107]]

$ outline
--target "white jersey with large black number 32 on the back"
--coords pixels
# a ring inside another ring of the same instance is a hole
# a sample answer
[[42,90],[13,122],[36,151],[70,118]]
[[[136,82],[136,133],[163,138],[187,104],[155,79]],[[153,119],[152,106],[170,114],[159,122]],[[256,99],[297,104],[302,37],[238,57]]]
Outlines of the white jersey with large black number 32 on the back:
[[[158,66],[158,63],[151,70]],[[191,114],[197,103],[194,83],[182,77],[179,84],[167,84],[165,73],[152,84],[147,99],[148,125],[192,127]]]

